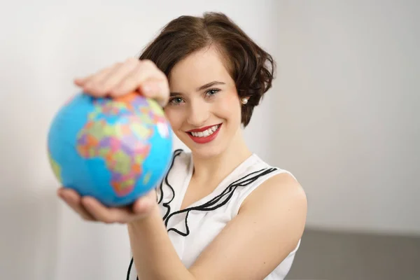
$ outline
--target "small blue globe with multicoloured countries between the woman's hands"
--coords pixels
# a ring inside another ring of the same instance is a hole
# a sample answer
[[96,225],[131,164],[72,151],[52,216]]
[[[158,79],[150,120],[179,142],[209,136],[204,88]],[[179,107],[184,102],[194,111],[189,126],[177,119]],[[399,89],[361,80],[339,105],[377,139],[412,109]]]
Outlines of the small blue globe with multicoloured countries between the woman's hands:
[[132,204],[155,188],[172,158],[173,132],[153,99],[132,93],[76,94],[48,132],[52,172],[65,188],[107,207]]

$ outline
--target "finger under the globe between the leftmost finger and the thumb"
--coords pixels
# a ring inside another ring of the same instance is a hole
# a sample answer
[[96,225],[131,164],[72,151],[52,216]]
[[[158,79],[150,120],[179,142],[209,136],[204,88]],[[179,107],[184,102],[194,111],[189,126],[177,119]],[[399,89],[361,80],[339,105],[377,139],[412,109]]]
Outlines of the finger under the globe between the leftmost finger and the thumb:
[[128,209],[108,208],[93,197],[83,197],[82,204],[94,218],[104,223],[125,223],[130,216]]

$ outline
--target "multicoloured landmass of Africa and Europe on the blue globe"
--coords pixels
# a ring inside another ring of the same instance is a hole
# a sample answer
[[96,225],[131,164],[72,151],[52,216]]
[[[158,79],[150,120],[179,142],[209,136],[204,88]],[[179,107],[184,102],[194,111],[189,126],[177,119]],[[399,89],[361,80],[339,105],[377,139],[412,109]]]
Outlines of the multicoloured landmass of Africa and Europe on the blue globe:
[[[118,99],[96,99],[94,110],[77,136],[77,151],[83,158],[102,158],[111,172],[111,186],[118,196],[131,193],[142,175],[142,165],[151,150],[148,139],[153,127],[168,137],[165,115],[148,99],[128,94]],[[141,114],[134,115],[133,111]],[[116,120],[118,116],[118,120]],[[134,155],[134,156],[133,156]],[[150,178],[144,177],[144,183]]]

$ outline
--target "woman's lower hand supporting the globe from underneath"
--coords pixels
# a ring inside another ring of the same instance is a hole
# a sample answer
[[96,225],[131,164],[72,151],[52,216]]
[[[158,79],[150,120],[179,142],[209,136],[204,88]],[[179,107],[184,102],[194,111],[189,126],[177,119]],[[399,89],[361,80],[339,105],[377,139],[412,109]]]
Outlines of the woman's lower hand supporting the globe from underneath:
[[151,190],[127,207],[106,207],[94,197],[80,197],[70,188],[59,188],[57,195],[85,221],[132,223],[148,217],[158,207],[155,190]]

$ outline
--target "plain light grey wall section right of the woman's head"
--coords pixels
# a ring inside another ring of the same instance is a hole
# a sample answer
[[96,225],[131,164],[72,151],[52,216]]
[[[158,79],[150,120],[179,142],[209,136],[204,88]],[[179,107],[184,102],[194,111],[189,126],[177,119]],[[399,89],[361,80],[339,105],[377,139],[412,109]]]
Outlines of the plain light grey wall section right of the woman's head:
[[277,163],[307,225],[420,235],[420,1],[279,1]]

